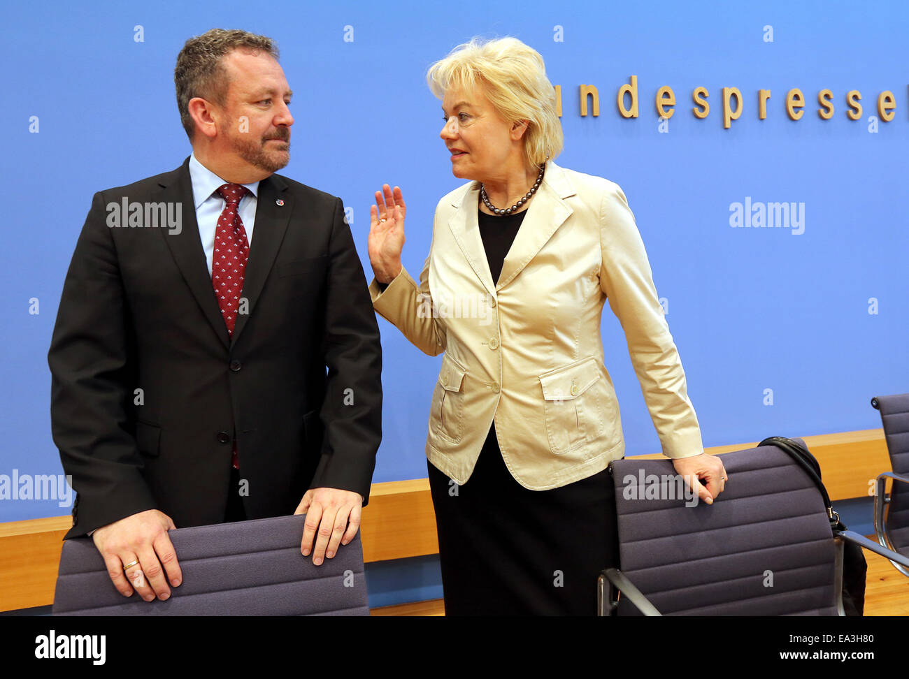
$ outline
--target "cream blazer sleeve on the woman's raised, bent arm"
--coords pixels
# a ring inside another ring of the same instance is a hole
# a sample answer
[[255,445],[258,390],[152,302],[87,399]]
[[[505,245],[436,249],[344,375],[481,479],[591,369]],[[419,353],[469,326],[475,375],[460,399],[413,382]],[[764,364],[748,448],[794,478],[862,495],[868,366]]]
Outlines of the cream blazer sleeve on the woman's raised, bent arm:
[[[436,208],[433,224],[433,242],[435,242],[435,221],[439,211]],[[433,297],[429,290],[429,261],[433,256],[432,242],[429,254],[420,272],[419,284],[411,278],[404,266],[401,271],[381,290],[373,279],[369,293],[373,299],[376,313],[395,325],[404,336],[417,348],[429,356],[438,356],[445,351],[445,327],[433,314]]]

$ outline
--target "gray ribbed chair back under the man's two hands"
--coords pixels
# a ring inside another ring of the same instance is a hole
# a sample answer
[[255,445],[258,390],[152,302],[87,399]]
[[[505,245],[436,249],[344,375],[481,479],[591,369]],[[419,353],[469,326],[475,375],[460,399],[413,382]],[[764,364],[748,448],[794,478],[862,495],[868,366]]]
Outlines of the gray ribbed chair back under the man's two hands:
[[177,528],[183,584],[166,601],[125,597],[91,538],[66,540],[54,615],[369,615],[360,536],[313,566],[300,553],[305,515]]

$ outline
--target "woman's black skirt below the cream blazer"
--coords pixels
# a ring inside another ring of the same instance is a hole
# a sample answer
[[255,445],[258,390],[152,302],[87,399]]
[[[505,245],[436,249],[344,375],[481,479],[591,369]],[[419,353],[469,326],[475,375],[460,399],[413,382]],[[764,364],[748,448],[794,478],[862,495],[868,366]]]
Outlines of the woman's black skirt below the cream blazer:
[[432,464],[445,615],[595,615],[597,577],[617,566],[609,471],[528,490],[505,467],[495,426],[457,486]]

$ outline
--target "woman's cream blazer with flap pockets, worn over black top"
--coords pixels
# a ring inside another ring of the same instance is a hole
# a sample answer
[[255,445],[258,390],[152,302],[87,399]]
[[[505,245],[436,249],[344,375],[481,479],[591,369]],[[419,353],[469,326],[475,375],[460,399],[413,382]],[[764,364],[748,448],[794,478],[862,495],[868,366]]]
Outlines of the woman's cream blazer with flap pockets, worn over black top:
[[429,413],[426,457],[464,484],[489,428],[505,465],[532,490],[561,487],[624,456],[613,381],[604,366],[604,301],[621,321],[663,453],[704,452],[682,361],[656,296],[624,192],[546,163],[499,281],[477,223],[479,184],[435,209],[417,283],[404,269],[377,313],[430,356],[445,352]]

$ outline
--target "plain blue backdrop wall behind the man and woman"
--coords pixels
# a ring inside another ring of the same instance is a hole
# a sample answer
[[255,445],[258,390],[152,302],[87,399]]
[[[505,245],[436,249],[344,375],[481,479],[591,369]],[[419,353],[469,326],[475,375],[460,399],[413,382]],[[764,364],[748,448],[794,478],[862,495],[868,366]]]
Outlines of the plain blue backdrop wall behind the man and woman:
[[[295,90],[292,160],[283,173],[353,209],[370,278],[373,192],[383,182],[403,188],[404,263],[417,275],[435,204],[461,183],[438,137],[428,65],[474,35],[530,44],[562,88],[565,150],[557,162],[605,176],[628,196],[704,445],[879,427],[869,399],[909,390],[909,5],[756,5],[6,5],[0,475],[62,472],[46,352],[66,267],[95,191],[173,169],[190,153],[175,105],[175,57],[188,37],[215,26],[277,40]],[[625,119],[615,95],[632,75],[640,114]],[[581,116],[582,84],[597,87],[598,116]],[[676,99],[668,122],[654,106],[663,85]],[[692,112],[697,86],[709,92],[704,119]],[[741,117],[729,129],[724,87],[742,93]],[[764,120],[762,88],[772,92]],[[792,88],[804,93],[798,121],[785,109]],[[833,93],[830,120],[817,113],[825,88]],[[850,90],[862,93],[857,121],[846,116]],[[890,122],[877,109],[884,91],[894,93]],[[731,226],[751,223],[757,203],[773,202],[795,204],[791,223]],[[374,480],[425,477],[439,358],[385,320],[380,327],[385,438]],[[603,341],[627,451],[658,452],[608,306]],[[68,512],[62,504],[4,499],[0,521],[58,516]]]

